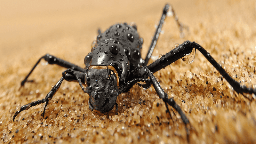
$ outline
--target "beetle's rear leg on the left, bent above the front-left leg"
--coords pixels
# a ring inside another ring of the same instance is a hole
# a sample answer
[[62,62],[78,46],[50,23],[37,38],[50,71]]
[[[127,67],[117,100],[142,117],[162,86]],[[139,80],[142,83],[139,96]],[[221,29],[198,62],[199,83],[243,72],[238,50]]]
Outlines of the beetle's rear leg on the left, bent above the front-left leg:
[[41,59],[46,60],[49,64],[57,64],[61,67],[64,68],[72,68],[74,70],[77,71],[81,71],[81,72],[85,72],[85,70],[83,68],[80,68],[79,66],[76,66],[75,64],[69,63],[68,61],[62,60],[60,58],[57,58],[55,56],[52,56],[50,54],[46,54],[43,57],[41,57],[36,64],[34,65],[34,67],[31,69],[31,71],[28,73],[28,75],[25,77],[25,79],[21,82],[21,86],[23,86],[26,82],[28,82],[28,76],[30,76],[30,74],[32,73],[32,71],[36,68],[36,66],[38,65],[38,63],[40,62]]

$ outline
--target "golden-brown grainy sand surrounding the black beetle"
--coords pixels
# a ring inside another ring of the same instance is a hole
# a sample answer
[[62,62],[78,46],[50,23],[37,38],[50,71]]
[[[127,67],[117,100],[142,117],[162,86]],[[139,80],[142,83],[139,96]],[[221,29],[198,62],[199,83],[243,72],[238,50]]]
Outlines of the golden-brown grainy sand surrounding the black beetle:
[[166,3],[189,31],[181,38],[168,17],[153,59],[175,43],[196,41],[235,80],[256,88],[255,0],[1,2],[0,143],[256,143],[255,95],[245,94],[248,100],[237,94],[198,51],[192,64],[178,60],[154,74],[188,117],[189,141],[179,114],[168,116],[152,86],[144,90],[135,85],[119,95],[116,115],[114,109],[89,110],[89,95],[78,83],[64,81],[44,117],[41,104],[12,121],[20,106],[43,99],[65,70],[42,60],[30,76],[35,81],[20,87],[41,56],[50,53],[84,67],[98,28],[135,22],[145,58]]

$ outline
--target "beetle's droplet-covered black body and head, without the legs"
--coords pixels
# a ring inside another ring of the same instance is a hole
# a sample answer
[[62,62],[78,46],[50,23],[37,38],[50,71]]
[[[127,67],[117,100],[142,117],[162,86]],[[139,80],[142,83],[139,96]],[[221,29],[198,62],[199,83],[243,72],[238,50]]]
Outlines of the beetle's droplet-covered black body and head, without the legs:
[[90,109],[113,109],[120,90],[132,80],[130,70],[140,68],[141,45],[136,27],[126,23],[113,25],[99,34],[92,52],[84,59]]

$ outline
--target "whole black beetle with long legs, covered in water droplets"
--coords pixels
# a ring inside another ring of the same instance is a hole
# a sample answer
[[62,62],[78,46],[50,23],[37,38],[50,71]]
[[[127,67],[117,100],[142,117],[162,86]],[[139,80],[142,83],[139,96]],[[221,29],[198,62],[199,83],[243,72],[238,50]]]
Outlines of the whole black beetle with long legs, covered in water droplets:
[[[65,67],[67,70],[62,73],[60,80],[53,86],[52,90],[44,99],[22,106],[19,111],[15,112],[12,120],[14,121],[15,117],[21,111],[41,103],[45,103],[43,111],[44,116],[49,100],[51,100],[53,95],[58,91],[63,80],[66,80],[78,82],[82,90],[89,94],[89,109],[98,110],[100,112],[108,112],[112,110],[115,105],[117,109],[117,96],[123,92],[128,92],[134,84],[138,84],[145,89],[153,85],[158,96],[164,101],[167,112],[170,114],[168,105],[172,106],[180,114],[187,129],[187,125],[189,124],[188,118],[173,98],[169,98],[167,93],[164,92],[153,74],[179,59],[189,63],[192,62],[193,59],[188,59],[187,56],[189,54],[194,55],[196,50],[204,55],[237,93],[256,94],[256,89],[242,86],[229,76],[221,65],[196,42],[185,41],[180,45],[175,45],[173,50],[148,65],[148,60],[156,46],[169,7],[169,4],[164,6],[163,14],[156,28],[145,60],[141,58],[143,39],[140,38],[137,32],[137,26],[129,26],[127,23],[115,24],[103,33],[99,30],[99,36],[97,36],[92,52],[84,58],[85,68],[81,68],[50,54],[41,57],[21,82],[21,86],[28,81],[28,77],[42,59],[46,60],[49,64],[57,64],[61,67]],[[172,12],[175,16],[173,10]],[[176,19],[176,22],[182,30],[184,25],[182,25],[178,19]],[[144,82],[144,84],[138,82]],[[245,98],[247,97],[245,96]],[[189,135],[188,129],[187,135]]]

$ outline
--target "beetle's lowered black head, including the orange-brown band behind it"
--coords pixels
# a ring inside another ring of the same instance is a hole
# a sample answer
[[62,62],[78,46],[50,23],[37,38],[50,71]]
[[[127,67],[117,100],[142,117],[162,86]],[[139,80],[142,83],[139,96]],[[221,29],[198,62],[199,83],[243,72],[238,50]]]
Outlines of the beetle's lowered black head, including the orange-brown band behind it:
[[119,77],[111,66],[90,66],[85,75],[86,92],[89,94],[89,108],[109,112],[118,96]]

